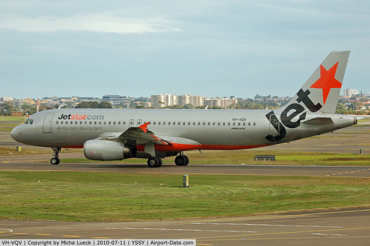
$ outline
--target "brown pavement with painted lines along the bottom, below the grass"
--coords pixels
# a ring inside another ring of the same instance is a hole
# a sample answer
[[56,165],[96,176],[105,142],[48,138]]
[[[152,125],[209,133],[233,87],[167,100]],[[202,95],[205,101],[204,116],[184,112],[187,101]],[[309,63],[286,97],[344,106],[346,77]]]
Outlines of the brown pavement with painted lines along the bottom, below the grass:
[[197,245],[369,245],[370,209],[131,222],[0,221],[1,239],[196,239]]

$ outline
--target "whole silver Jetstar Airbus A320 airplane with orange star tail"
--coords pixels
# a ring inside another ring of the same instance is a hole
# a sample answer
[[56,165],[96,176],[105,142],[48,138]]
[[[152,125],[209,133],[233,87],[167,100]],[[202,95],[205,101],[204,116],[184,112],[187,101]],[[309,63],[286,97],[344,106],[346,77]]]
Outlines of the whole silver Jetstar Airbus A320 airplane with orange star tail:
[[357,124],[334,114],[350,51],[333,51],[281,108],[274,110],[53,109],[31,115],[10,135],[20,143],[83,148],[90,160],[148,159],[149,167],[187,150],[238,150],[292,142]]

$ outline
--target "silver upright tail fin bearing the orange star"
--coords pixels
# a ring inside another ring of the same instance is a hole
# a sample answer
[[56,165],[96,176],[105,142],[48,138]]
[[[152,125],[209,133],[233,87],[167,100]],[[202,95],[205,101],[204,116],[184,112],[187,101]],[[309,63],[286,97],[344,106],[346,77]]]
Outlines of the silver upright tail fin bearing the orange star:
[[342,88],[349,51],[332,51],[297,94],[282,107],[300,104],[311,112],[334,113]]

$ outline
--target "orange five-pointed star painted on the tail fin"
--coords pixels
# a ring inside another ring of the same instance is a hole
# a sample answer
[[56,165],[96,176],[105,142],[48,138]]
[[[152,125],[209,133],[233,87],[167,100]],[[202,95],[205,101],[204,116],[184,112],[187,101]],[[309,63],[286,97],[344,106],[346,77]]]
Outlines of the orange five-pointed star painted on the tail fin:
[[327,96],[329,95],[330,89],[332,88],[341,88],[342,83],[334,78],[335,73],[337,72],[338,63],[335,63],[329,70],[326,70],[323,65],[320,65],[320,79],[313,83],[310,88],[317,88],[323,90],[323,100],[324,105]]

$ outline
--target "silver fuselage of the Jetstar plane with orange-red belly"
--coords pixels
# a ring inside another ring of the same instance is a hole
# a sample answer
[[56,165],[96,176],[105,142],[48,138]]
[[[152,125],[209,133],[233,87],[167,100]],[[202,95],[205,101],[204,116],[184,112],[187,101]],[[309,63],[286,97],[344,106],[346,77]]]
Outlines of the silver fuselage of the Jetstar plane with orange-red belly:
[[[306,110],[304,120],[327,117],[333,123],[301,123],[298,127],[289,128],[279,121],[279,110],[273,111],[278,120],[272,123],[266,116],[270,110],[55,109],[31,115],[33,123],[17,126],[11,131],[11,137],[27,145],[83,148],[88,140],[115,136],[129,127],[151,122],[148,130],[155,135],[169,142],[182,143],[182,149],[171,150],[232,150],[290,142],[356,124],[355,119],[348,115]],[[293,118],[292,122],[297,119]],[[278,127],[274,128],[273,124]],[[286,131],[283,138],[275,141],[266,138],[281,135],[279,131],[282,128]],[[158,149],[156,146],[157,150],[166,151],[166,148]]]

